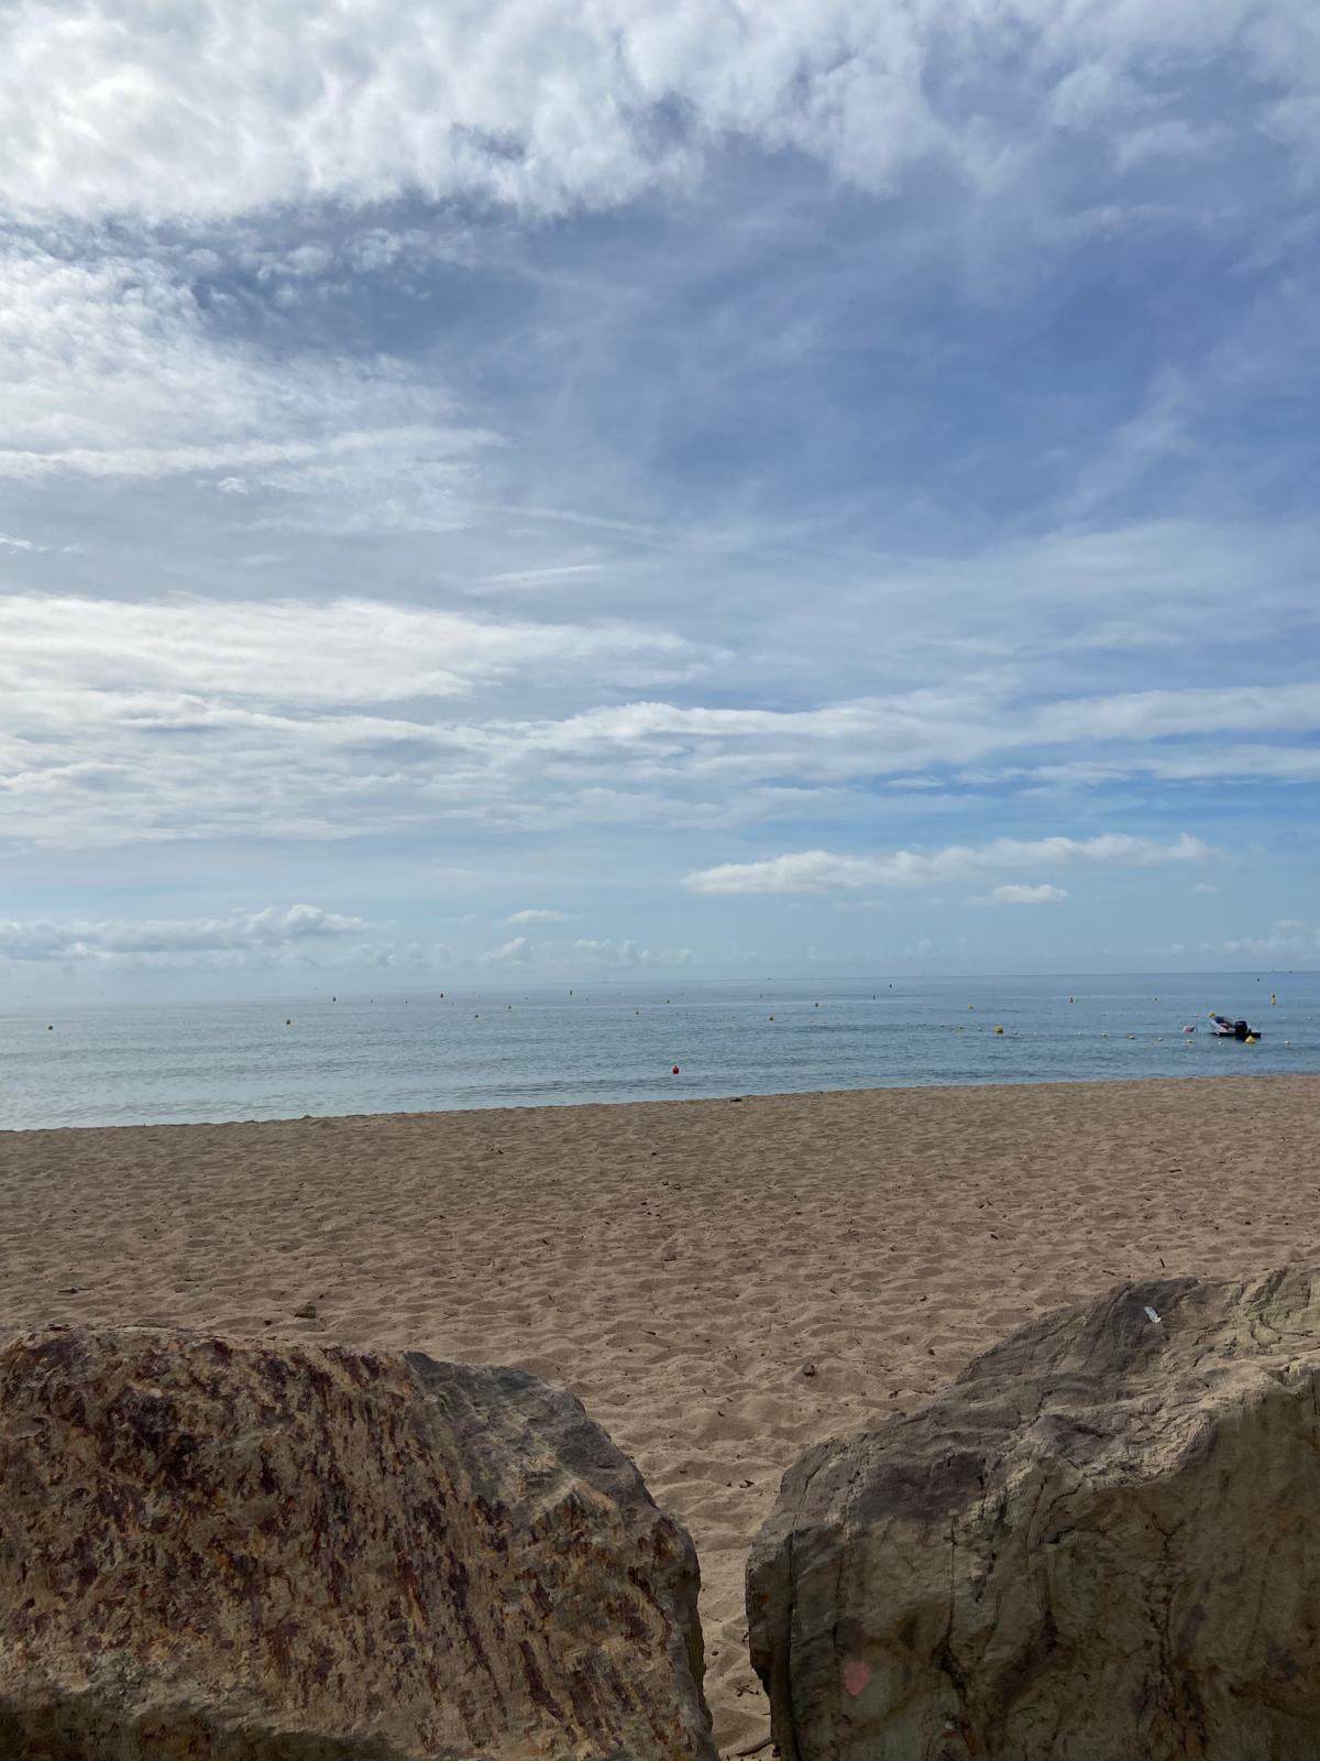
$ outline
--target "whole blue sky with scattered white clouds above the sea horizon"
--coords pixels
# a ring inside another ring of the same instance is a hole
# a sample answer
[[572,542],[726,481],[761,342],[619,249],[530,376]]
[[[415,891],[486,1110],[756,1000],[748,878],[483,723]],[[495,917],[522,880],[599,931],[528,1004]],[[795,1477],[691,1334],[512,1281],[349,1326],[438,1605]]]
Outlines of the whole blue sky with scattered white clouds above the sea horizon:
[[0,118],[0,1007],[1320,965],[1313,0],[18,0]]

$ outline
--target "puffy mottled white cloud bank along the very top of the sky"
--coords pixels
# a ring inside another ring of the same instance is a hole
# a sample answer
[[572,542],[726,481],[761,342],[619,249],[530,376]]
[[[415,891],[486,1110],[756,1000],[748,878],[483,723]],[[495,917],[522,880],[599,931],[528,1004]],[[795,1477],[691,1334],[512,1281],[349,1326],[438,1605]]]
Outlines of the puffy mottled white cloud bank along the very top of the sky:
[[1315,158],[1315,26],[1294,0],[1269,28],[1251,0],[1003,0],[993,18],[977,0],[192,0],[169,30],[150,0],[28,0],[0,21],[0,197],[19,211],[195,217],[414,188],[561,213],[688,181],[730,136],[873,190],[928,162],[996,194],[1051,148],[1052,181],[1081,174],[1068,137],[1132,134],[1130,162],[1213,148],[1169,69],[1228,55],[1237,127]]

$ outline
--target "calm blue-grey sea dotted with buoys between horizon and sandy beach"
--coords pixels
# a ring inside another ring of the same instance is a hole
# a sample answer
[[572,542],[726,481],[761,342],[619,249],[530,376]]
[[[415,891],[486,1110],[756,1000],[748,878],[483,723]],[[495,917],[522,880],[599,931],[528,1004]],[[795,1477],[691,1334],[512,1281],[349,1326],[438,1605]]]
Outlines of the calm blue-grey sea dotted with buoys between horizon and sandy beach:
[[[1209,1009],[1264,1039],[1211,1039]],[[16,1129],[1228,1072],[1320,1072],[1320,974],[586,984],[0,1014],[0,1127]]]

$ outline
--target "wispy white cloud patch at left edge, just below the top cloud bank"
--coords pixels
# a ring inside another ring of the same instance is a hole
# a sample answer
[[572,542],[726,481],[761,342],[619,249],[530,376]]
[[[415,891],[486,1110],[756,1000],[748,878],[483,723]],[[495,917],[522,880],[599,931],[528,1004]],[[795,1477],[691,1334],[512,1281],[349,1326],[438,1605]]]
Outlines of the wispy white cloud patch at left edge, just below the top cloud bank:
[[77,243],[0,238],[0,477],[229,474],[306,493],[363,470],[387,486],[426,453],[440,493],[493,444],[389,361],[266,359],[222,340],[178,262]]

